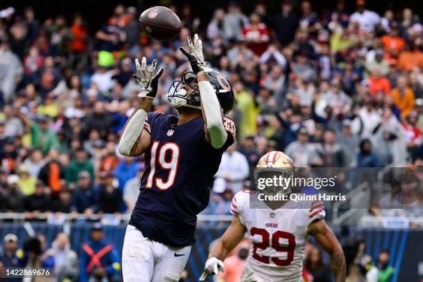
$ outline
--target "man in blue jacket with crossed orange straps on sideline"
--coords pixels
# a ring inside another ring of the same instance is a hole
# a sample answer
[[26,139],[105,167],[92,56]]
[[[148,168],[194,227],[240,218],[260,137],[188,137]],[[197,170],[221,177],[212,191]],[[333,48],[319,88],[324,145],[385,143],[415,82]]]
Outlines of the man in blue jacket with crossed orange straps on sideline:
[[115,281],[120,273],[118,252],[104,241],[103,227],[95,223],[91,228],[91,240],[82,245],[79,282]]

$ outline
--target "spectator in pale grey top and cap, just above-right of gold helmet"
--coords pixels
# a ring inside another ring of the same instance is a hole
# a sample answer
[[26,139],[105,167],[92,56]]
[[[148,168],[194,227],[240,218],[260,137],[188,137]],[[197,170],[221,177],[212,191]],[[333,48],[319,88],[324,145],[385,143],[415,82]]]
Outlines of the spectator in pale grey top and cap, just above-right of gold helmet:
[[297,167],[310,167],[318,162],[319,158],[314,146],[308,140],[306,127],[301,127],[297,133],[297,141],[291,142],[285,149],[285,153],[292,158]]

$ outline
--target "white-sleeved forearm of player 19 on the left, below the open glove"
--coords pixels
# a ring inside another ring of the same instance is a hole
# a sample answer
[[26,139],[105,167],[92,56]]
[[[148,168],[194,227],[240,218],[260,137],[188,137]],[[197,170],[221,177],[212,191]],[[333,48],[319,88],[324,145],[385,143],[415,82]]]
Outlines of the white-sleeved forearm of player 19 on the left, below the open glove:
[[145,118],[151,109],[153,99],[144,97],[138,102],[129,120],[126,121],[120,135],[118,150],[122,156],[133,156],[140,142],[142,129],[144,129]]

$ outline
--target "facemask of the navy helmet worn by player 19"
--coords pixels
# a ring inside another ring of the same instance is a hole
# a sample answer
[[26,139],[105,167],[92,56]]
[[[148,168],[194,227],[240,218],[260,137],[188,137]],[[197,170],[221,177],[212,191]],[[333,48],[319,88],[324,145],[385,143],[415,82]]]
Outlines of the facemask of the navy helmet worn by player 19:
[[[196,75],[194,73],[184,73],[182,79],[175,80],[166,95],[171,105],[178,109],[181,106],[201,109],[200,90],[198,89]],[[185,87],[182,87],[185,86]],[[192,90],[188,95],[187,91]]]

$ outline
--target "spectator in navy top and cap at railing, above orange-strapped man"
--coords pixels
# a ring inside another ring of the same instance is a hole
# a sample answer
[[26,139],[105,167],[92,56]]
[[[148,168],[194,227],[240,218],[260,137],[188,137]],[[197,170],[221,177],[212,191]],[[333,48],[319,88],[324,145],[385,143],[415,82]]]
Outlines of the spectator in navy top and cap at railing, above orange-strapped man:
[[97,210],[97,193],[88,171],[80,171],[77,177],[77,187],[72,195],[72,210],[89,216]]

